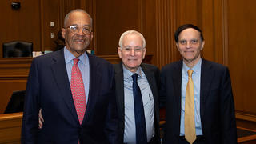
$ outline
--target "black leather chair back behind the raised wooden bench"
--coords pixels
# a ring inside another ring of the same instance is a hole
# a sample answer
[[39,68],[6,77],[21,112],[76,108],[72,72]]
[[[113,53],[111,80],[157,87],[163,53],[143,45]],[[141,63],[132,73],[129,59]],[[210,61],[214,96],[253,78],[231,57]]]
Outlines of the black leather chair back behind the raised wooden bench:
[[2,44],[2,57],[32,57],[33,43],[32,42],[6,42]]

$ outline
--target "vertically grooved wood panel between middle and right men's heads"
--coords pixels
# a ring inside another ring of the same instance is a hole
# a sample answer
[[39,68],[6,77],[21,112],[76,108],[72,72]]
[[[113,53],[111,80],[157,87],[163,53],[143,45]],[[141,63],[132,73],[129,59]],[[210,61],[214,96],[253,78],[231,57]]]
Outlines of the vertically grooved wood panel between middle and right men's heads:
[[[177,49],[174,42],[174,23],[176,3],[169,0],[156,1],[156,49],[157,66],[162,67],[173,62],[176,58]],[[176,26],[176,25],[175,25]]]

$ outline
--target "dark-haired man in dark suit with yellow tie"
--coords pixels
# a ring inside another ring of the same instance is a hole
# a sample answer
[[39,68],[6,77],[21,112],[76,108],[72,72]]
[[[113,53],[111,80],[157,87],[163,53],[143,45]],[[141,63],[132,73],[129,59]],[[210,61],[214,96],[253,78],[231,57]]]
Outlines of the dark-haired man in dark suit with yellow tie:
[[160,101],[166,105],[163,142],[237,143],[228,68],[201,58],[205,42],[197,26],[180,26],[174,37],[182,60],[160,74]]

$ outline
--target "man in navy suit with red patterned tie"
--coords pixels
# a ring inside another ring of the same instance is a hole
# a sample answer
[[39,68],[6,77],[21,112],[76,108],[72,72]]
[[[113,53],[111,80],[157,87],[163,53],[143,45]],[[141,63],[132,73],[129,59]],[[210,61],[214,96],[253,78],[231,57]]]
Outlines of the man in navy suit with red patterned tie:
[[[22,143],[119,143],[114,67],[86,53],[92,19],[84,10],[72,10],[64,26],[65,48],[31,64]],[[38,130],[40,108],[44,122]]]

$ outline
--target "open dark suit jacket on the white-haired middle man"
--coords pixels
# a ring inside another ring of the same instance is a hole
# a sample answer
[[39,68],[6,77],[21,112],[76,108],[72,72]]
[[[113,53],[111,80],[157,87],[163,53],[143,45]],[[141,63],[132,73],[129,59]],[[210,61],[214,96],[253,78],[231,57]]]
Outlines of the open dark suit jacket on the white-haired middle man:
[[[158,143],[159,140],[159,108],[158,108],[158,86],[159,86],[159,70],[158,67],[149,65],[146,63],[141,64],[144,74],[146,74],[147,81],[150,84],[150,89],[152,90],[154,96],[154,127],[155,127],[155,136],[154,142]],[[121,139],[123,142],[123,135],[125,130],[125,110],[124,110],[124,80],[123,80],[123,70],[122,62],[114,65],[114,78],[116,83],[115,93],[117,95],[118,103],[118,115],[119,115],[119,127]]]

